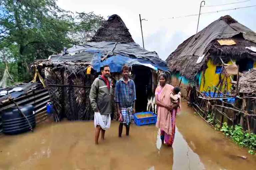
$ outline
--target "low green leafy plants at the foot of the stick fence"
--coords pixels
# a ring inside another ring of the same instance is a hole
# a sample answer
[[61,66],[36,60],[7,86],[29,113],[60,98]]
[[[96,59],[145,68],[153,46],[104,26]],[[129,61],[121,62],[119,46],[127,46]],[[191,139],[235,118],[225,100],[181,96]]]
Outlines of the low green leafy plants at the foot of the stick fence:
[[256,154],[256,134],[248,133],[241,126],[236,125],[233,129],[226,122],[223,123],[220,131],[229,136],[235,143],[242,147],[248,147],[250,154]]

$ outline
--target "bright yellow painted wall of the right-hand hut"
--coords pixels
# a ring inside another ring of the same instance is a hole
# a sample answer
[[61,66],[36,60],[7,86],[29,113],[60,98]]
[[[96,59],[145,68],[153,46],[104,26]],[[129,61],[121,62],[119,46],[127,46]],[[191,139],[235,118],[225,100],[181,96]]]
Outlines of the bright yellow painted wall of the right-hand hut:
[[[227,64],[232,64],[232,62],[229,61]],[[203,72],[201,75],[202,77],[201,77],[200,91],[209,91],[208,86],[210,86],[211,91],[214,91],[214,86],[217,86],[217,84],[219,83],[219,74],[215,73],[216,65],[213,64],[213,61],[211,59],[208,60],[207,66],[208,68],[204,71],[205,74]],[[224,75],[221,75],[221,77],[223,79]],[[205,78],[205,83],[204,83],[204,78]],[[224,87],[225,87],[225,84],[223,83],[221,91],[224,91]],[[228,90],[230,90],[231,87],[232,87],[231,80],[228,77]]]

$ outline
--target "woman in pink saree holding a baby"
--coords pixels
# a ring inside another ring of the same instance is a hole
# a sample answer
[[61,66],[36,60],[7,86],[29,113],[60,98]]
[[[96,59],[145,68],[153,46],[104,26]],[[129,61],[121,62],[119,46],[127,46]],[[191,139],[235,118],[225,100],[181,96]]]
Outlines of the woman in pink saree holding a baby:
[[166,83],[167,76],[159,75],[160,86],[156,88],[155,99],[157,104],[156,127],[161,130],[162,144],[172,146],[175,136],[176,114],[179,110],[179,102],[172,104],[170,93],[174,87]]

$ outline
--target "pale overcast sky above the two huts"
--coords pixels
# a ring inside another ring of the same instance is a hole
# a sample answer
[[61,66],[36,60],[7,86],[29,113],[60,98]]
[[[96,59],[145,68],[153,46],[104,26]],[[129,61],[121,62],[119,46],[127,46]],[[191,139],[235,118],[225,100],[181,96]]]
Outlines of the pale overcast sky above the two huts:
[[[89,13],[93,11],[95,14],[101,15],[105,19],[107,19],[107,16],[113,14],[119,15],[129,29],[133,40],[140,46],[143,46],[139,20],[139,14],[141,14],[141,19],[146,19],[142,21],[145,49],[156,51],[163,60],[165,60],[180,43],[196,34],[198,16],[175,19],[172,19],[172,17],[199,14],[200,3],[201,0],[57,1],[59,7],[72,12]],[[205,6],[201,8],[201,13],[253,5],[256,5],[256,0],[205,0]],[[256,18],[256,6],[225,12],[202,14],[200,15],[198,31],[225,15],[230,15],[239,23],[256,32],[256,23],[254,23]]]

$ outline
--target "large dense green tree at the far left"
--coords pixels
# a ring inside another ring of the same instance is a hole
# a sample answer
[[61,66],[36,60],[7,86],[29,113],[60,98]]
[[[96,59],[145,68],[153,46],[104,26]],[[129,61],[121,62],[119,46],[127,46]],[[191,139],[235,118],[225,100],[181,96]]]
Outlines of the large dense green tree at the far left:
[[18,47],[15,59],[21,79],[30,80],[29,63],[34,59],[46,58],[69,45],[65,36],[72,17],[54,0],[1,0],[0,11],[0,47]]

